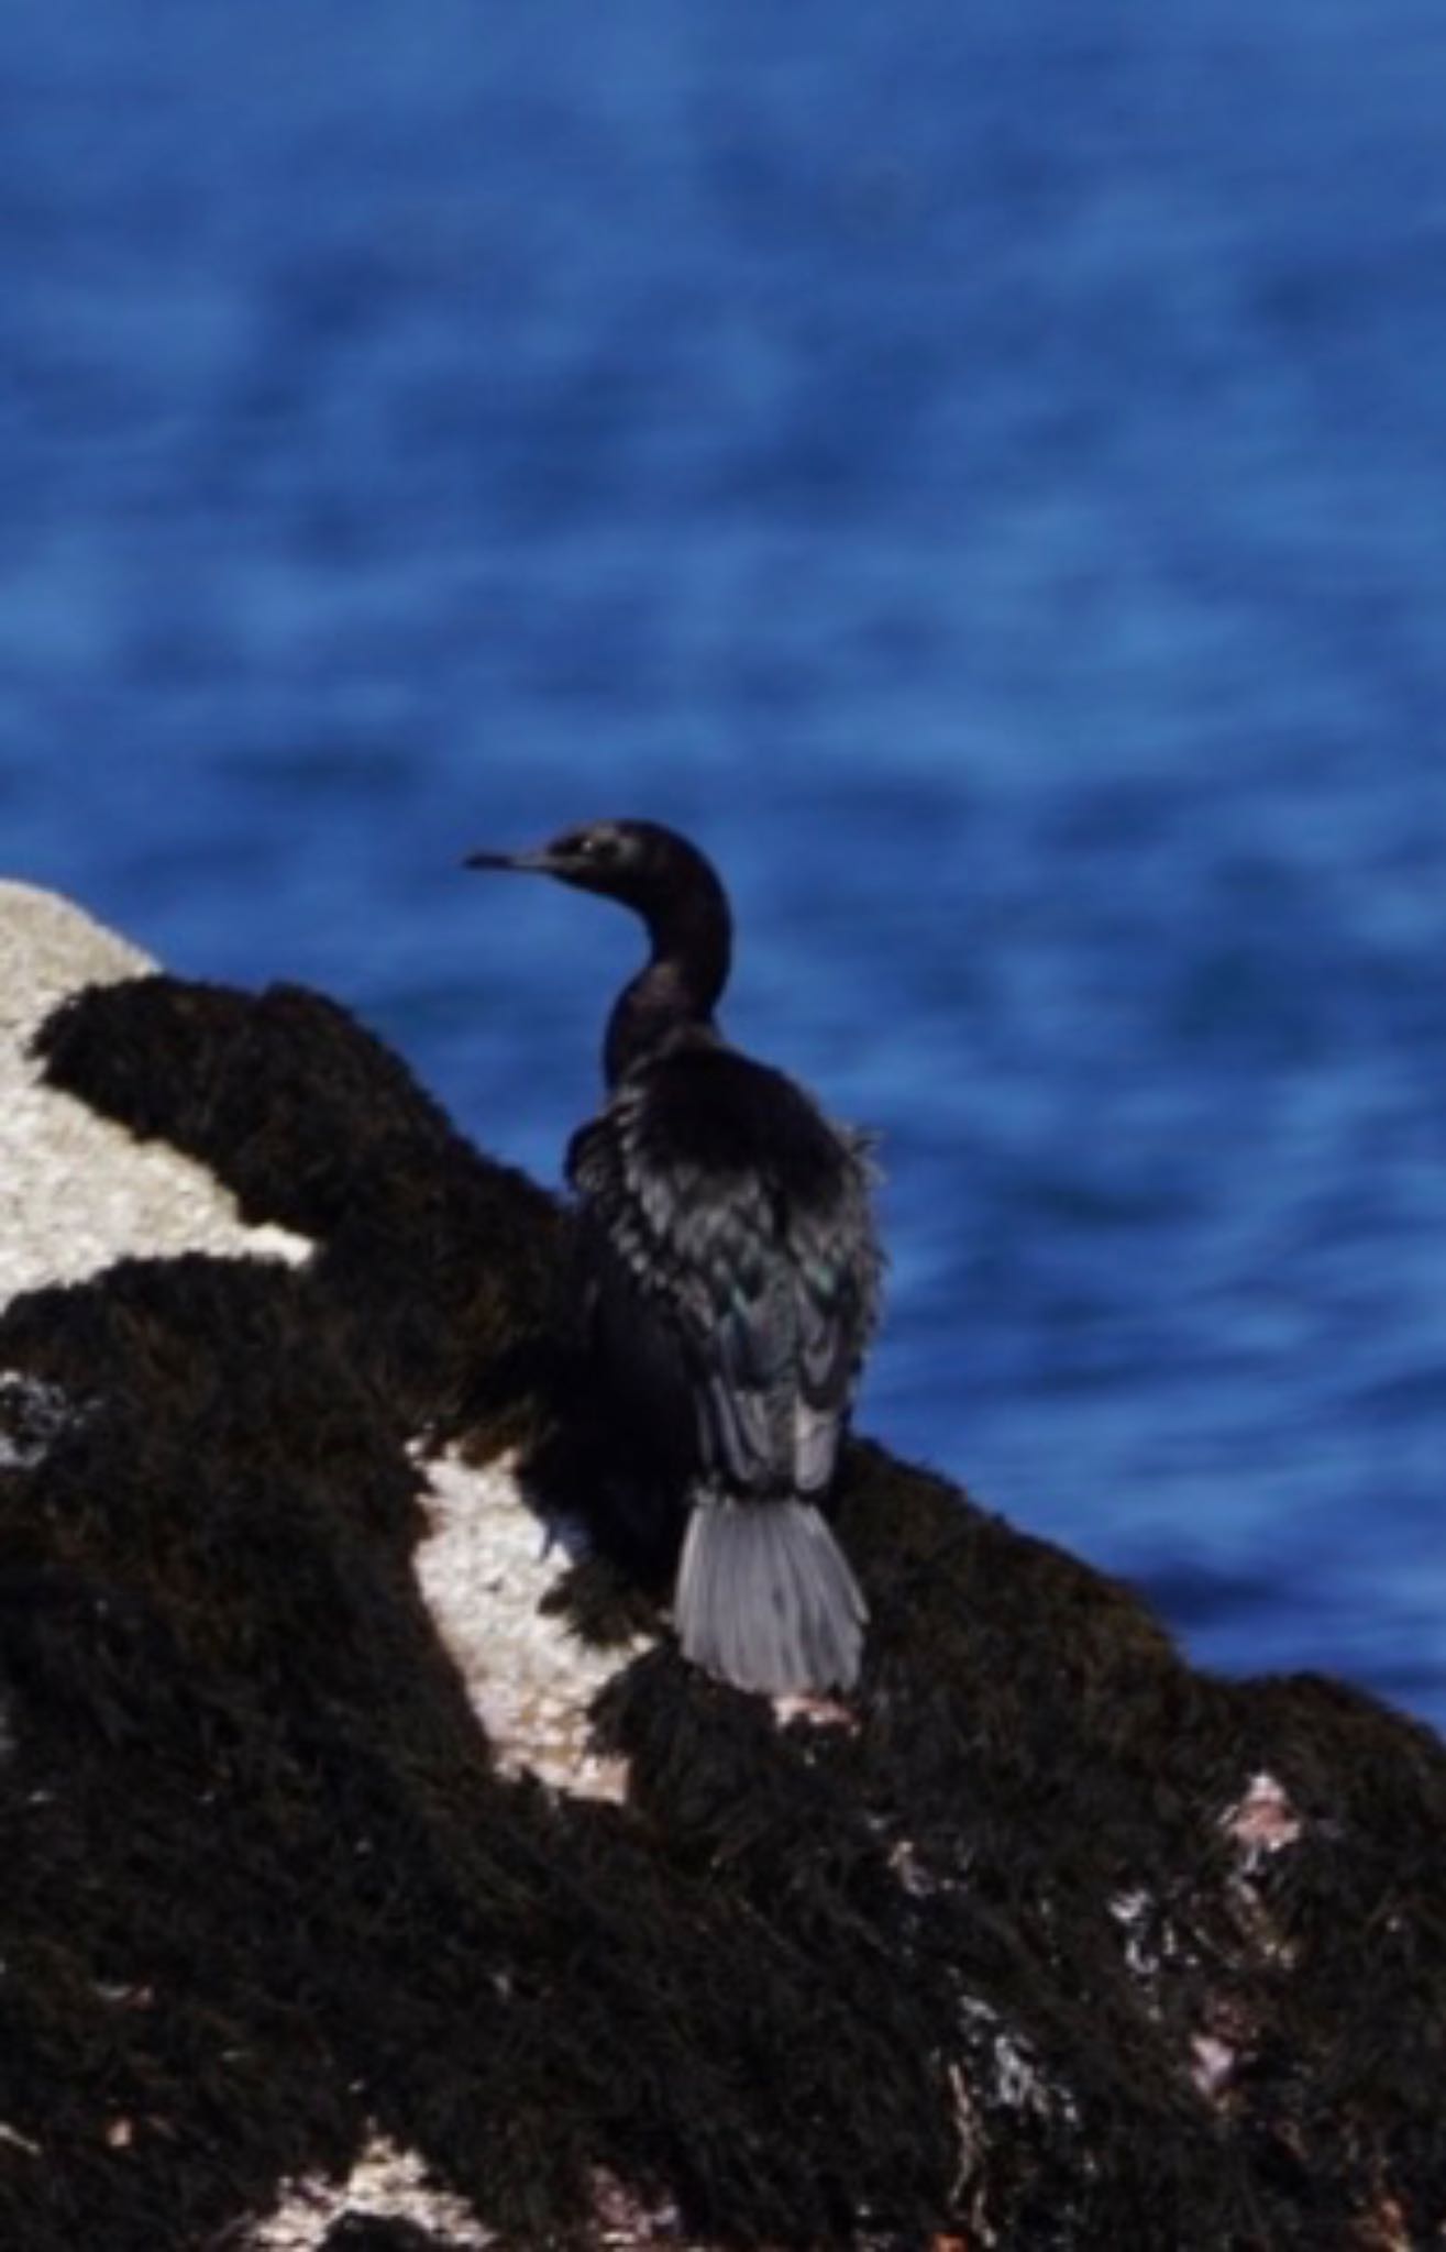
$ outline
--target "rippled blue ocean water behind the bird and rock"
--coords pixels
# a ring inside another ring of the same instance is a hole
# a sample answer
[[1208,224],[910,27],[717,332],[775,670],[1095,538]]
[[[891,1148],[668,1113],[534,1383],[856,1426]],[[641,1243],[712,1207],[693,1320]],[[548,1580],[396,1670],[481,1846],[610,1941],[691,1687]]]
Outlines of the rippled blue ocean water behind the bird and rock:
[[1446,1718],[1439,0],[14,0],[7,872],[556,1178],[651,813],[863,1421]]

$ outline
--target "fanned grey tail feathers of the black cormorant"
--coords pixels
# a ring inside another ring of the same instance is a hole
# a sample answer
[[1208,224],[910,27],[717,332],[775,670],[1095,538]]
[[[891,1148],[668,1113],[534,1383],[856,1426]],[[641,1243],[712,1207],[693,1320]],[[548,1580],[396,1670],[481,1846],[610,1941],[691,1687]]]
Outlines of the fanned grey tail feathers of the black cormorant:
[[813,1502],[703,1493],[673,1624],[682,1655],[737,1689],[822,1696],[858,1680],[867,1606]]

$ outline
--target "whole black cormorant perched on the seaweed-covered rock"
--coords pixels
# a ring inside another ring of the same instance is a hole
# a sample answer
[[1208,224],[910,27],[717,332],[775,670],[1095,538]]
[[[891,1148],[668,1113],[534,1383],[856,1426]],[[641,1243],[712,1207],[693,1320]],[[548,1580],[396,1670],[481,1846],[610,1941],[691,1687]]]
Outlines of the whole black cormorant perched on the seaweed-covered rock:
[[820,1502],[878,1308],[865,1144],[723,1040],[732,919],[685,838],[595,822],[468,867],[556,876],[646,923],[606,1103],[568,1151],[595,1353],[635,1457],[687,1509],[685,1653],[741,1689],[849,1689],[865,1603]]

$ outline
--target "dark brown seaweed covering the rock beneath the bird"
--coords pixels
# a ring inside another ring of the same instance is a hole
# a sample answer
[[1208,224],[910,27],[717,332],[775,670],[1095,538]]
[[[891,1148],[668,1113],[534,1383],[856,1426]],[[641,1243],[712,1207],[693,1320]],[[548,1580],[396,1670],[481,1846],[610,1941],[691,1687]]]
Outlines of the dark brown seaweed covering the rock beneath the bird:
[[[860,1441],[849,1712],[662,1639],[597,1700],[622,1799],[543,1788],[421,1601],[408,1441],[523,1446],[590,1516],[556,1207],[309,993],[92,989],[41,1054],[318,1250],[0,1322],[0,2243],[252,2243],[378,2130],[525,2247],[1432,2236],[1435,1736],[1191,1673]],[[658,1628],[599,1556],[554,1603]]]

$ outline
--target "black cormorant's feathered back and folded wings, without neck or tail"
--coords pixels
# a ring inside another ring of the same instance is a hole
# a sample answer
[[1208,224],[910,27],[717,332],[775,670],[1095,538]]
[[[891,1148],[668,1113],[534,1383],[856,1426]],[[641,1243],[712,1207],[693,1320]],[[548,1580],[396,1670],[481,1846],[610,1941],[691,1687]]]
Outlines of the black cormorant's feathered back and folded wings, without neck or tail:
[[568,1173],[624,1392],[691,1432],[705,1480],[820,1493],[878,1302],[860,1137],[707,1036],[628,1074]]

